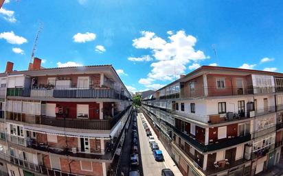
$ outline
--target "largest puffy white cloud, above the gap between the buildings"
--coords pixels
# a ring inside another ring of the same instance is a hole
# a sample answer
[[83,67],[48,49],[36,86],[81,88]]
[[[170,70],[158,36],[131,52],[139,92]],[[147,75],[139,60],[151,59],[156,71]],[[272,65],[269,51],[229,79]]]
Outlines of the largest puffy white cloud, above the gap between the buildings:
[[[133,47],[137,49],[150,49],[153,62],[148,78],[155,80],[172,80],[176,75],[185,73],[189,62],[196,62],[208,58],[203,51],[195,50],[196,38],[185,34],[181,30],[176,34],[168,32],[168,41],[155,35],[154,32],[141,32],[141,37],[133,40]],[[144,78],[146,79],[146,78]],[[140,80],[144,80],[140,79]],[[151,81],[151,82],[152,82]]]

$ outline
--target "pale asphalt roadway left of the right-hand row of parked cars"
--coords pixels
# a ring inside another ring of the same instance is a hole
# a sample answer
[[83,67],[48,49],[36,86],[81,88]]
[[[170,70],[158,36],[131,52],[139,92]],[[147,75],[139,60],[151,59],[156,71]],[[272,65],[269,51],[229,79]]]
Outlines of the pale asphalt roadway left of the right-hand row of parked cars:
[[[152,151],[148,143],[148,137],[146,136],[146,130],[141,122],[141,114],[137,116],[137,126],[139,134],[139,147],[142,169],[145,176],[159,176],[161,175],[161,170],[166,168],[165,162],[157,162],[153,157]],[[151,130],[152,133],[154,131]],[[157,139],[155,139],[157,140]],[[140,165],[141,165],[140,163]]]

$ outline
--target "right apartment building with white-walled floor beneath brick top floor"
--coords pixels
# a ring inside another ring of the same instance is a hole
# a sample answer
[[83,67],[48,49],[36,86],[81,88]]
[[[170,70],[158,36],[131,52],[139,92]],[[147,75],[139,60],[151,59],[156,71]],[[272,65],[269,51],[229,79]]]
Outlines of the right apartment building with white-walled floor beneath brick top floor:
[[282,73],[201,66],[142,110],[183,175],[257,175],[282,155],[282,88]]

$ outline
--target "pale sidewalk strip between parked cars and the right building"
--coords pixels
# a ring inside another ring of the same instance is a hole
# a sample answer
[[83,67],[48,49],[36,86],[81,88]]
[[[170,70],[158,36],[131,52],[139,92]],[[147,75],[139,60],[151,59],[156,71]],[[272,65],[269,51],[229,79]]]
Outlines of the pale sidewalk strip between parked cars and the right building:
[[146,117],[144,116],[144,114],[139,113],[138,114],[138,118],[141,118],[141,116],[144,118],[144,120],[148,124],[148,127],[150,128],[150,131],[152,132],[152,136],[155,138],[155,142],[157,142],[157,144],[159,146],[159,149],[163,153],[163,158],[164,158],[163,164],[166,166],[166,168],[170,168],[175,176],[183,176],[181,174],[179,168],[176,166],[176,164],[174,163],[174,161],[170,157],[169,153],[166,151],[166,149],[163,146],[163,144],[160,142],[160,140],[158,140],[157,135],[155,134],[155,131],[153,131],[152,127],[150,126],[150,123],[148,123],[148,121],[147,121]]

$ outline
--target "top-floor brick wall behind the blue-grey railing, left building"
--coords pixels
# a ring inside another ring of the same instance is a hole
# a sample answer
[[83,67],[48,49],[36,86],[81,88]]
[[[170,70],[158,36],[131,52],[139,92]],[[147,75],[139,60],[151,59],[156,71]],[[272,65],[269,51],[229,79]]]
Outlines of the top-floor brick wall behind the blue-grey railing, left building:
[[[69,77],[71,79],[71,85],[77,86],[78,84],[78,77],[91,77],[91,82],[93,86],[91,87],[99,87],[100,86],[100,74],[85,74],[85,75],[60,75],[58,77]],[[48,77],[56,77],[56,76],[42,76],[38,77],[37,84],[47,84]]]

